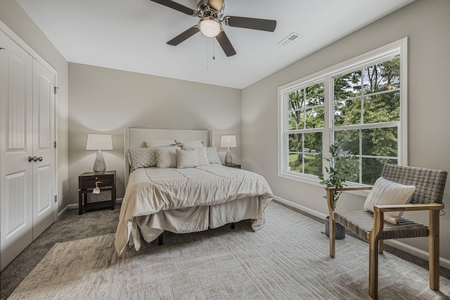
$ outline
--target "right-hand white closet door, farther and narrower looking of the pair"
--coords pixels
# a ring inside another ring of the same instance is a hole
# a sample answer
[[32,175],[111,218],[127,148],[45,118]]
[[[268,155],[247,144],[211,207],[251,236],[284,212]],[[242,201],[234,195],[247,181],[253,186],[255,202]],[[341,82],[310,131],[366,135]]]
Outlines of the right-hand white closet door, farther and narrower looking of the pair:
[[54,75],[33,60],[33,240],[54,221]]

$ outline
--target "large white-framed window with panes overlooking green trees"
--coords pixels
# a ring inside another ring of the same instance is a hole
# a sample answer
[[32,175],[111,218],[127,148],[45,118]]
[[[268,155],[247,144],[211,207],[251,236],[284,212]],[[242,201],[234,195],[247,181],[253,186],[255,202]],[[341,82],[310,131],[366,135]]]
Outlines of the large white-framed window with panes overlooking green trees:
[[[359,158],[358,184],[406,164],[406,38],[278,89],[278,174],[315,180],[340,140]],[[326,151],[323,151],[326,153]]]

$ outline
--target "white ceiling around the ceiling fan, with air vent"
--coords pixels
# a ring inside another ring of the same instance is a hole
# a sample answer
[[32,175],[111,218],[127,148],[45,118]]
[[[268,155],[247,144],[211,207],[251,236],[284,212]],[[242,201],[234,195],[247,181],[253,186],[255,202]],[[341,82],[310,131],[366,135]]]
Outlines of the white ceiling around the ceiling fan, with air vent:
[[[166,44],[198,18],[150,0],[17,1],[69,62],[243,89],[413,0],[226,0],[224,15],[277,21],[274,32],[224,26],[231,57],[201,33]],[[292,32],[302,37],[278,44]]]

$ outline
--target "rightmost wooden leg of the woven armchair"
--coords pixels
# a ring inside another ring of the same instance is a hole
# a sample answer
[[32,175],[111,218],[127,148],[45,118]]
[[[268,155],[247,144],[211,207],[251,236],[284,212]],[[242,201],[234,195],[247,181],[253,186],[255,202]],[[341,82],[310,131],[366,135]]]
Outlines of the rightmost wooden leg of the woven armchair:
[[430,256],[430,289],[439,291],[439,211],[430,211],[430,232],[428,236]]

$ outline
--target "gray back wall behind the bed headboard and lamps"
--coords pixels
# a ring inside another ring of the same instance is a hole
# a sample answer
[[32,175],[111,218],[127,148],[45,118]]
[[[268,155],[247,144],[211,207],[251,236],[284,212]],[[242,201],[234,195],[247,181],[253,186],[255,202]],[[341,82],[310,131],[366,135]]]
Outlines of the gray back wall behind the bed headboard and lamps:
[[[240,163],[240,89],[69,63],[69,193],[78,201],[78,175],[91,172],[95,151],[86,151],[88,133],[113,135],[103,151],[106,168],[117,171],[117,197],[124,195],[124,127],[215,130],[236,135],[233,162]],[[100,200],[100,199],[99,199]]]

